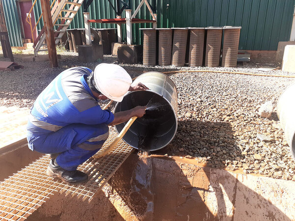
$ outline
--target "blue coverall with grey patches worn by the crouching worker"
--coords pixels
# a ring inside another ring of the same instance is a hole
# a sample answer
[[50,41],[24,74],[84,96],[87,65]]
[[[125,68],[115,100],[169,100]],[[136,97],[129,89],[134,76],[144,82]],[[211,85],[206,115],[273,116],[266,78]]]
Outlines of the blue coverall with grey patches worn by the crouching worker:
[[37,97],[29,114],[29,148],[61,153],[56,158],[66,170],[93,156],[109,136],[114,114],[102,110],[86,78],[92,71],[74,67],[61,72]]

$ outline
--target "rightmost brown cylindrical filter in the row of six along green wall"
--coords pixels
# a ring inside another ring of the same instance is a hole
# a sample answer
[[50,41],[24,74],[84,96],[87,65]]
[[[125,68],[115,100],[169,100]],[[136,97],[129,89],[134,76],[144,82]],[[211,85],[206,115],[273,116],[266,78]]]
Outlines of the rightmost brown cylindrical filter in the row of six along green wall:
[[241,27],[225,26],[221,66],[236,67],[239,34]]

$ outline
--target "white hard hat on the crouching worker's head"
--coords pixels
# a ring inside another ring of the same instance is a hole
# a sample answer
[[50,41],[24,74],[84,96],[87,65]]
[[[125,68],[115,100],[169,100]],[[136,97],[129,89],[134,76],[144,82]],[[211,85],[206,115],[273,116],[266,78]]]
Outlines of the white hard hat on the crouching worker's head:
[[94,86],[113,101],[121,102],[131,83],[130,75],[117,64],[101,63],[94,69]]

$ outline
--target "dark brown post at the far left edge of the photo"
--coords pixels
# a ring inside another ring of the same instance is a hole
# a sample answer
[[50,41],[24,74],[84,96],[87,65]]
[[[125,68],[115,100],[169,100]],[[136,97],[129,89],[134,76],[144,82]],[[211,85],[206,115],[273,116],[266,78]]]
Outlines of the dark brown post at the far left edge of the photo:
[[5,16],[4,16],[4,10],[2,6],[2,0],[0,0],[0,42],[2,46],[3,56],[4,57],[10,57],[10,61],[14,61],[9,37],[8,37],[8,31],[5,23]]

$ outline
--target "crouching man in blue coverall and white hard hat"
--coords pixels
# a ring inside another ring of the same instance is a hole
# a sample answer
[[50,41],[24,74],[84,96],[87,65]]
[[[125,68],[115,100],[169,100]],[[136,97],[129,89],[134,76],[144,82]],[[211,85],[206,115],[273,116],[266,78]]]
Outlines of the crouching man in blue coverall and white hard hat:
[[102,147],[109,136],[108,126],[146,112],[138,106],[113,114],[97,104],[98,99],[108,98],[120,102],[128,90],[148,89],[131,83],[122,67],[103,63],[94,72],[86,67],[67,69],[41,92],[29,114],[27,139],[31,150],[51,154],[49,176],[68,183],[88,179],[77,167]]

